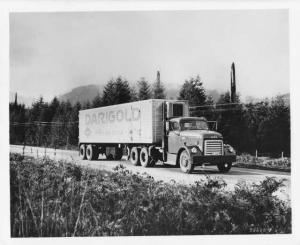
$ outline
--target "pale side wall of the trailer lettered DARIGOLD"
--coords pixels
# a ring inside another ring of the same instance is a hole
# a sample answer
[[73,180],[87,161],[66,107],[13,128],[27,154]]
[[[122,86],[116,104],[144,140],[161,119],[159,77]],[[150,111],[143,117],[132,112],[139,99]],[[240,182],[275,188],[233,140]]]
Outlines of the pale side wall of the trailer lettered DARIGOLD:
[[80,143],[161,142],[164,100],[144,100],[79,112]]

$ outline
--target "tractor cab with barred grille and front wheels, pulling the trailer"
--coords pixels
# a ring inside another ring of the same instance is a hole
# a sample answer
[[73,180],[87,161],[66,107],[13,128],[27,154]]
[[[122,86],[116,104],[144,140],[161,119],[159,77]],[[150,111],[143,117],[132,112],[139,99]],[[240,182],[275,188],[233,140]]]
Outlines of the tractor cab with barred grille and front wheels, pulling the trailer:
[[204,117],[169,117],[165,128],[166,163],[179,165],[185,173],[203,165],[216,165],[225,173],[236,161],[235,150],[224,144],[220,133],[209,129]]

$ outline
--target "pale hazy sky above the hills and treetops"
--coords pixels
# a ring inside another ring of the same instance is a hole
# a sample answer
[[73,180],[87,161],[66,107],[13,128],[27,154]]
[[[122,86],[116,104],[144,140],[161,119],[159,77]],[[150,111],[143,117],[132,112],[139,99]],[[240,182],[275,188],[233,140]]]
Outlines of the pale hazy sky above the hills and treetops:
[[168,87],[199,75],[242,99],[289,92],[288,10],[10,14],[10,91],[46,100],[121,75]]

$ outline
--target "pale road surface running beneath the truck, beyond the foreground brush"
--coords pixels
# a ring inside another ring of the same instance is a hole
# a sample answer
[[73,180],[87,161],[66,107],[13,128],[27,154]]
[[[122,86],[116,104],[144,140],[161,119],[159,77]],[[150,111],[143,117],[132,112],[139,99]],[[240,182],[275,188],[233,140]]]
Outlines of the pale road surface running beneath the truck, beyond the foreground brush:
[[[23,153],[23,146],[11,145],[11,152]],[[224,179],[227,183],[227,188],[232,190],[234,185],[239,181],[246,181],[248,183],[259,183],[266,176],[276,177],[277,179],[286,179],[285,186],[282,187],[276,195],[283,200],[290,201],[291,191],[291,176],[290,173],[279,172],[279,171],[269,171],[269,170],[258,170],[258,169],[245,169],[232,167],[229,173],[219,173],[217,167],[207,166],[205,168],[197,167],[192,174],[185,174],[180,171],[180,168],[166,167],[162,164],[157,164],[152,168],[143,168],[140,166],[133,166],[129,161],[124,159],[120,161],[108,161],[104,158],[99,157],[96,161],[80,160],[77,151],[71,150],[54,150],[51,148],[42,147],[30,147],[26,146],[24,148],[24,153],[29,156],[43,157],[47,155],[48,157],[56,160],[67,160],[75,161],[76,164],[82,166],[88,166],[91,168],[102,169],[111,171],[117,165],[124,165],[127,169],[133,172],[148,173],[154,177],[156,180],[163,180],[169,182],[175,180],[177,183],[181,184],[193,184],[195,181],[205,179],[206,175],[213,177],[220,177]]]

